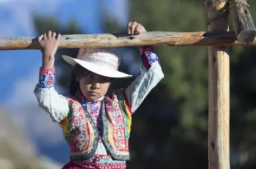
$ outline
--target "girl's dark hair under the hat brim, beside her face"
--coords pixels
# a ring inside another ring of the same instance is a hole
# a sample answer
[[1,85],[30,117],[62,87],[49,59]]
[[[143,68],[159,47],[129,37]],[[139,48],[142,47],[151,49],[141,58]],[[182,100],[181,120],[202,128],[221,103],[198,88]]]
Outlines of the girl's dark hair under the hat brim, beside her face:
[[[70,75],[70,82],[68,86],[70,96],[75,96],[80,88],[79,82],[76,81],[76,77],[81,77],[81,75],[84,75],[87,72],[89,72],[89,70],[80,66],[80,64],[75,64],[75,66],[72,68],[71,75]],[[111,83],[113,83],[114,81],[116,81],[116,79],[110,78],[110,81]]]

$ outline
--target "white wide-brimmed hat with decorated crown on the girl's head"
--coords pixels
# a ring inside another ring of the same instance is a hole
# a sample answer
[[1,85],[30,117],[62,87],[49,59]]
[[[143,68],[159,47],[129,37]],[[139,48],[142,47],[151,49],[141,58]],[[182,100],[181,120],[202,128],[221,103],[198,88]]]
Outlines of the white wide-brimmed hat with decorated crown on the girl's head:
[[80,64],[95,74],[116,78],[132,77],[118,71],[121,54],[113,48],[80,48],[76,59],[65,55],[62,57],[69,64]]

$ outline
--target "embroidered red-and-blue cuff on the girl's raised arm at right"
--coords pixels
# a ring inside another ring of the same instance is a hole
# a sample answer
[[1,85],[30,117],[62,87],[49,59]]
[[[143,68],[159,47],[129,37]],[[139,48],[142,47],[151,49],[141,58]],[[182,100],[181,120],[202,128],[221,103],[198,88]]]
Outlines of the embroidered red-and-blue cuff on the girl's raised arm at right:
[[151,65],[158,61],[156,50],[152,46],[140,47],[140,57],[146,69],[150,69]]

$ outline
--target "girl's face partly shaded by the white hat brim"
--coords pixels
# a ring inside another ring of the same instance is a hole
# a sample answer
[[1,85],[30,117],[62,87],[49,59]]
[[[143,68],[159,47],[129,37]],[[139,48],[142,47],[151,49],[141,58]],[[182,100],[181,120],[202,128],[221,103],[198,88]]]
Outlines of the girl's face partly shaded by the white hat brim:
[[79,85],[82,94],[88,100],[95,101],[107,93],[110,82],[110,77],[87,72],[80,77]]

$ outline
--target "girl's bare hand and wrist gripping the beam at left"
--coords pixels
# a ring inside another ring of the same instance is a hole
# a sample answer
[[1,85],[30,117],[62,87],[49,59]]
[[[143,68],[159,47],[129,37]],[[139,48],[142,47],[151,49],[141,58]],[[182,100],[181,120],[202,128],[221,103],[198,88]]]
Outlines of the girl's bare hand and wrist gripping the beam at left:
[[54,67],[54,55],[59,46],[60,37],[60,34],[56,36],[56,33],[52,31],[37,37],[37,43],[43,55],[42,69],[52,69]]

